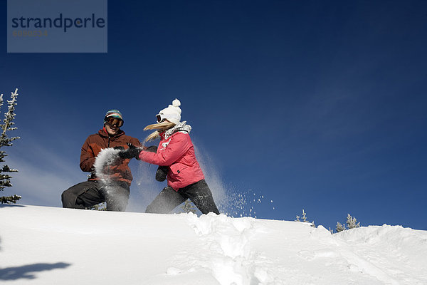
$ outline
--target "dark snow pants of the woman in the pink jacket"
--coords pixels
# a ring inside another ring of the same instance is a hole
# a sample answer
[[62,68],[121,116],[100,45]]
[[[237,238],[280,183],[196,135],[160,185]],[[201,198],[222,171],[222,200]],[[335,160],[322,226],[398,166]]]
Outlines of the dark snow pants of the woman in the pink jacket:
[[172,187],[166,187],[156,198],[147,206],[146,213],[167,214],[176,206],[190,199],[191,202],[202,212],[207,214],[214,212],[219,214],[218,208],[212,197],[212,192],[205,180],[188,185],[176,192]]

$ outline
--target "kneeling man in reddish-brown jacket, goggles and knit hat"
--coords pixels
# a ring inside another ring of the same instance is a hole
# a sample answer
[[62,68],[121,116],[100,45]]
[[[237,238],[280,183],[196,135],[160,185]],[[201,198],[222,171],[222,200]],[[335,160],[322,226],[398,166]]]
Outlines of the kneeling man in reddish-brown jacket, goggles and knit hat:
[[86,139],[80,155],[80,168],[84,172],[90,172],[90,177],[88,181],[78,183],[63,192],[61,199],[64,208],[88,209],[95,204],[107,202],[107,211],[125,211],[133,179],[128,166],[130,159],[119,159],[117,164],[109,166],[110,179],[107,184],[95,175],[93,167],[97,154],[104,148],[124,150],[127,143],[141,146],[139,140],[120,130],[123,123],[120,111],[109,110],[105,114],[104,128]]

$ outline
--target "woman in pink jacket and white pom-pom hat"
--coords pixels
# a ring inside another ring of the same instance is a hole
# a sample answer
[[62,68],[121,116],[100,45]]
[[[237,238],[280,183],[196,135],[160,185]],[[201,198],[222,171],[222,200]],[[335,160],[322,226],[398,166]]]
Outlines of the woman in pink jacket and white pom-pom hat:
[[[119,153],[120,157],[132,158],[159,165],[156,179],[162,181],[162,171],[167,172],[167,187],[148,205],[147,213],[169,213],[176,206],[190,199],[203,213],[219,214],[212,192],[204,180],[199,162],[196,160],[194,146],[190,139],[191,126],[181,122],[181,102],[172,101],[172,105],[161,110],[157,123],[147,125],[144,130],[155,130],[145,141],[160,138],[155,147],[141,150],[130,148]],[[164,178],[163,178],[164,180]]]

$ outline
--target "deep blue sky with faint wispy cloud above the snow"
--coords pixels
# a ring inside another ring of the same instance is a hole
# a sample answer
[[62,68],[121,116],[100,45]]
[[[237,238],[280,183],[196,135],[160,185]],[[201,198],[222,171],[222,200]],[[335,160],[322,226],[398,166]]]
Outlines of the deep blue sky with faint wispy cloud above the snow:
[[[6,53],[0,35],[21,136],[2,194],[22,204],[60,207],[85,180],[80,147],[106,110],[143,140],[179,98],[211,187],[264,195],[257,217],[427,229],[426,1],[110,0],[108,53]],[[163,184],[132,172],[143,211]]]

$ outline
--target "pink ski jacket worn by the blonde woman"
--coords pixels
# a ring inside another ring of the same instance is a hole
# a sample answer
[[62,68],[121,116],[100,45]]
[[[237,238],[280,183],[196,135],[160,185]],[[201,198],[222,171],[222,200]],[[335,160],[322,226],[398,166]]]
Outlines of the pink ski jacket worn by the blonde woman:
[[164,138],[164,133],[161,133],[160,138],[157,152],[142,150],[139,160],[169,166],[167,185],[175,191],[204,179],[188,133],[176,132],[167,139]]

